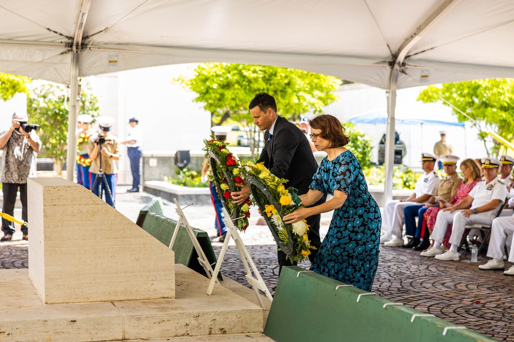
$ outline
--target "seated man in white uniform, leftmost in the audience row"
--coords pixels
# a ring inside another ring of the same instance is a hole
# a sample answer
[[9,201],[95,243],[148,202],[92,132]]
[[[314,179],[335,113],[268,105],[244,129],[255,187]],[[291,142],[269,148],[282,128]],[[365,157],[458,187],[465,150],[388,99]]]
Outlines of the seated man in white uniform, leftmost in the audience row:
[[434,172],[436,160],[437,158],[430,153],[421,153],[421,168],[425,173],[419,176],[414,193],[406,199],[390,200],[384,205],[382,228],[386,234],[380,237],[381,244],[392,247],[403,245],[403,208],[423,204],[434,194],[439,184],[439,176]]

